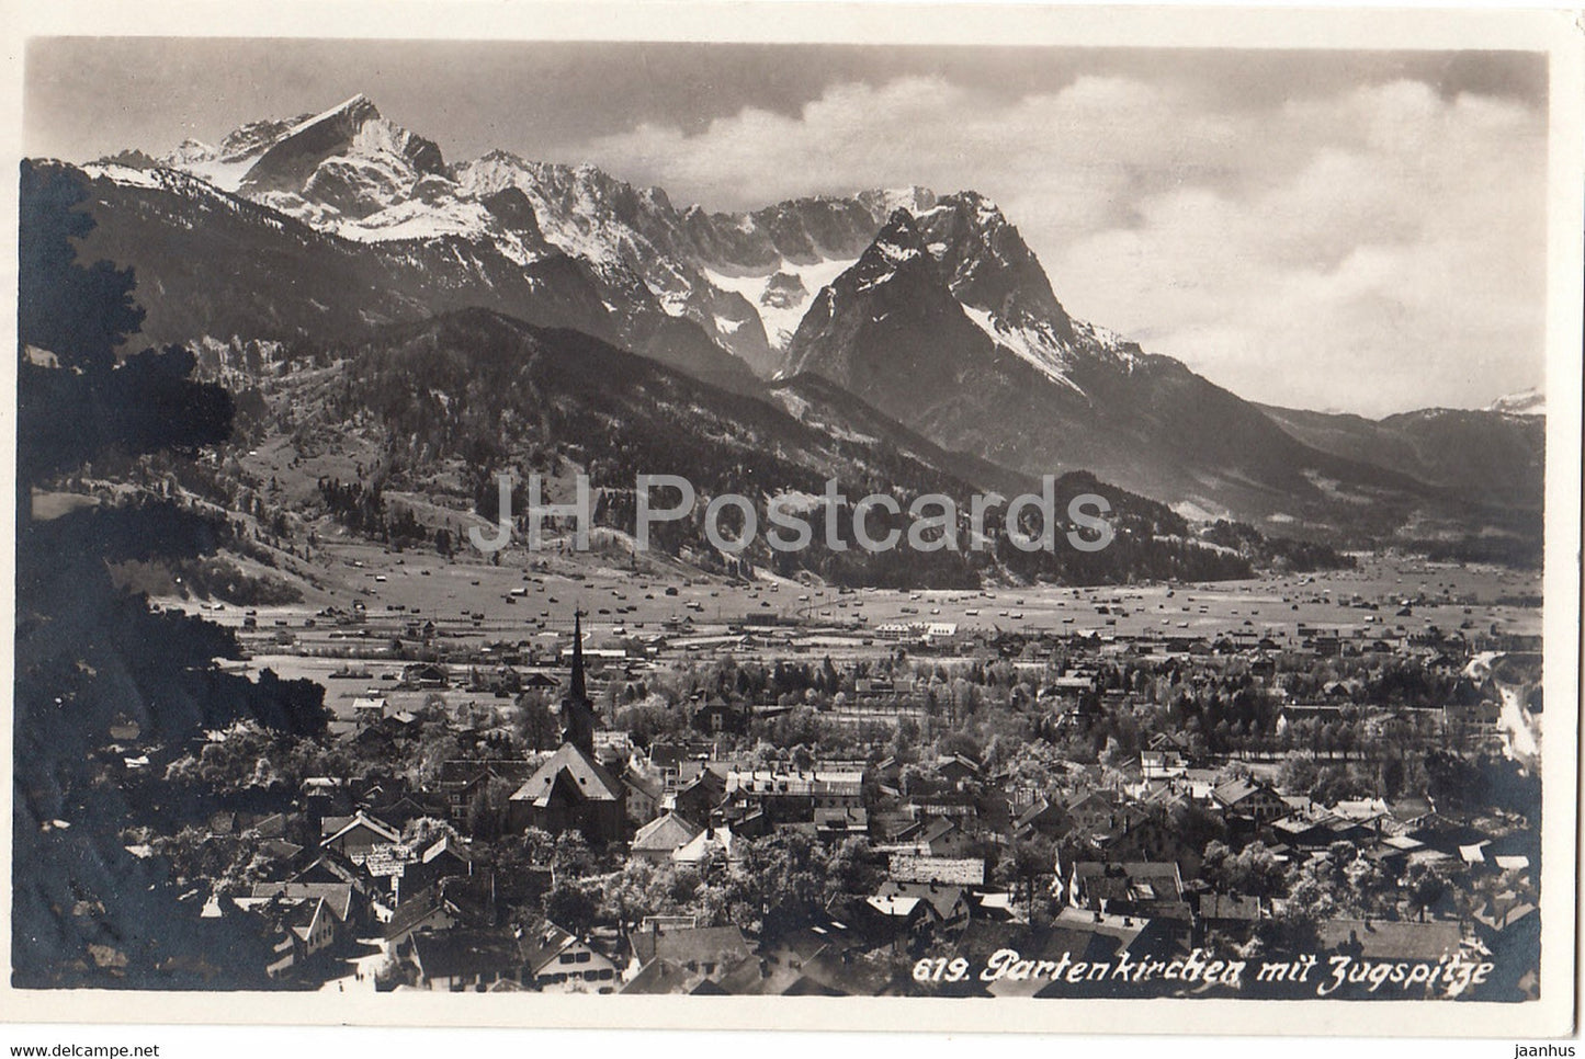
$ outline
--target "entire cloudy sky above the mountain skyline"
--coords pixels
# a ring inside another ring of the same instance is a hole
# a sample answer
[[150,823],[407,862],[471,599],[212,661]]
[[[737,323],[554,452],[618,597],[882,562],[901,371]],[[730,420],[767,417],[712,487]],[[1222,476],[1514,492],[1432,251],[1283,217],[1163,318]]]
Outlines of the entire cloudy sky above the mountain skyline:
[[30,155],[214,141],[357,92],[460,160],[678,206],[972,187],[1068,310],[1273,404],[1544,378],[1545,59],[1517,52],[35,40]]

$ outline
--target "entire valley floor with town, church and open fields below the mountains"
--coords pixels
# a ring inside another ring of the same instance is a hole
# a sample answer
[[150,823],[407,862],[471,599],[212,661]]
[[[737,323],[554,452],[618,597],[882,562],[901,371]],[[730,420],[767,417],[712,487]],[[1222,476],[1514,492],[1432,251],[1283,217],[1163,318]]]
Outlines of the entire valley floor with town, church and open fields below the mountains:
[[[168,742],[122,717],[94,755],[133,807],[130,855],[250,961],[228,980],[1314,991],[1008,975],[1011,951],[1319,958],[1317,978],[1328,958],[1466,961],[1496,972],[1426,970],[1407,996],[1534,985],[1534,575],[1358,556],[905,592],[330,533],[311,564],[344,589],[152,608],[235,630],[230,666],[323,689],[322,730]],[[954,962],[976,972],[930,972]]]

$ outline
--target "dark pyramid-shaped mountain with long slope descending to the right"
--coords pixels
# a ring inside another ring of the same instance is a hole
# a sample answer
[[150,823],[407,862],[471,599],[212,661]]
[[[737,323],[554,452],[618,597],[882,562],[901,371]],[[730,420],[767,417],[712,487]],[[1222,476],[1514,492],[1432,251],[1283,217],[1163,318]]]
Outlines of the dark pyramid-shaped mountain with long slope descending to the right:
[[1515,529],[1488,497],[1314,446],[1179,361],[1071,320],[1018,230],[973,193],[894,212],[815,298],[786,370],[945,448],[1029,475],[1094,470],[1197,518],[1342,538]]

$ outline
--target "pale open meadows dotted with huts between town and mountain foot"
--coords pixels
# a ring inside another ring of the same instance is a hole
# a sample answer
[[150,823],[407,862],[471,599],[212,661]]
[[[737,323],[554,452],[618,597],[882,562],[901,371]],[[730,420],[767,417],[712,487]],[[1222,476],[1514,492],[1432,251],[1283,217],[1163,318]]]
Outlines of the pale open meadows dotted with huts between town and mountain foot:
[[[472,554],[445,560],[430,551],[395,554],[376,545],[331,543],[315,559],[331,590],[292,606],[209,605],[204,614],[241,632],[254,655],[247,670],[268,666],[284,678],[325,684],[338,717],[350,715],[352,700],[371,689],[396,709],[423,703],[426,692],[395,689],[403,662],[391,643],[401,638],[411,649],[425,624],[434,625],[430,646],[450,657],[487,643],[528,643],[553,652],[567,643],[574,608],[586,616],[586,646],[664,635],[663,663],[721,652],[756,659],[880,655],[892,644],[875,628],[896,622],[948,622],[959,633],[1103,638],[1255,633],[1279,647],[1297,647],[1301,625],[1366,636],[1377,628],[1390,636],[1430,627],[1541,632],[1541,608],[1517,605],[1539,597],[1539,573],[1400,557],[1362,557],[1352,571],[1216,584],[900,592],[837,590],[778,578],[689,578],[672,570],[640,573],[591,554],[545,552],[525,568],[526,556],[517,556],[518,564],[493,565]],[[327,608],[350,614],[358,605],[358,622],[338,624],[325,614]],[[766,628],[745,644],[745,625]],[[509,704],[488,693],[476,698]]]

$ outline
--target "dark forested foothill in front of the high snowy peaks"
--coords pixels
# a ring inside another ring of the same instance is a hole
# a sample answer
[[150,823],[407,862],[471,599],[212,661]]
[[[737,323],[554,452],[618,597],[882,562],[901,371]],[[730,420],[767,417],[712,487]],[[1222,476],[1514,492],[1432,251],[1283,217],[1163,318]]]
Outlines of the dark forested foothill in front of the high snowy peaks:
[[[907,508],[911,497],[938,492],[953,497],[964,518],[976,491],[1038,486],[946,453],[818,380],[780,383],[766,400],[742,397],[586,334],[488,310],[382,328],[344,355],[349,359],[336,370],[285,372],[265,383],[273,404],[293,410],[292,462],[312,481],[322,473],[317,461],[346,465],[352,445],[365,465],[377,469],[385,497],[420,497],[415,507],[428,511],[491,510],[493,473],[507,467],[542,470],[552,495],[582,472],[598,494],[596,522],[631,532],[636,476],[683,473],[699,494],[696,516],[666,524],[661,546],[688,552],[705,570],[747,560],[840,583],[941,587],[1010,573],[1102,583],[1249,571],[1247,557],[1189,540],[1184,521],[1165,505],[1090,475],[1057,483],[1059,510],[1079,492],[1105,495],[1117,540],[1103,552],[1057,546],[1029,556],[1002,541],[986,552],[965,543],[959,551],[869,554],[846,529],[845,549],[827,551],[816,533],[808,548],[777,552],[764,543],[766,502],[788,497],[818,526],[827,478],[837,480],[848,503],[886,492]],[[281,453],[282,442],[249,443]],[[372,488],[374,480],[365,484]],[[697,513],[721,492],[745,495],[759,508],[759,537],[740,559],[716,554],[701,532]],[[997,526],[992,510],[992,535]],[[959,540],[967,541],[967,530]]]

